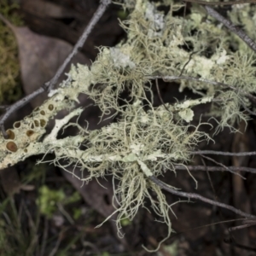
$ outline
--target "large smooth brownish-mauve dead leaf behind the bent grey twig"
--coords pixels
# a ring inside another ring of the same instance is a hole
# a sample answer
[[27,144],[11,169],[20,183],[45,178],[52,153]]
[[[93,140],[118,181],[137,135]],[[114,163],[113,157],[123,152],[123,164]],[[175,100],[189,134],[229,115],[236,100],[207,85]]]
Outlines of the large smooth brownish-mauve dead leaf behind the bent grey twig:
[[[31,94],[55,75],[58,67],[72,51],[73,46],[60,39],[38,35],[25,26],[13,26],[8,20],[3,17],[0,18],[15,33],[19,49],[23,89],[26,95]],[[75,55],[72,62],[90,65],[89,59],[81,53]],[[68,72],[70,65],[65,72]],[[65,79],[64,74],[59,82],[63,79]],[[46,98],[46,93],[36,97],[32,100],[32,106],[41,105]]]

